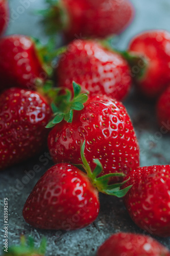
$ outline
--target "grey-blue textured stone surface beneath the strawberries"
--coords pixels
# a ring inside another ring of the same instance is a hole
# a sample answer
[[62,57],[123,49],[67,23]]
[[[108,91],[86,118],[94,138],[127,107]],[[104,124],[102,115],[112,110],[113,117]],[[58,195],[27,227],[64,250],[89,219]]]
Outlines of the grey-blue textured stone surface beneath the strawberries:
[[[22,14],[16,15],[22,0],[11,0],[10,6],[14,19],[11,19],[8,34],[21,33],[41,38],[44,42],[47,38],[43,28],[39,24],[39,17],[34,16],[36,9],[43,8],[43,0],[30,0],[30,7]],[[31,3],[32,2],[32,3]],[[127,47],[130,38],[138,32],[146,29],[166,29],[170,31],[170,2],[169,0],[133,0],[136,8],[136,17],[133,24],[122,35],[117,37],[115,44],[120,49]],[[134,124],[141,148],[141,166],[153,164],[170,164],[169,157],[169,135],[161,135],[157,126],[154,102],[149,103],[141,99],[135,93],[131,93],[124,102]],[[46,150],[47,152],[47,150]],[[42,153],[44,154],[44,153]],[[25,170],[33,169],[38,164],[41,172],[30,179],[28,184],[18,187],[18,182],[25,176]],[[101,195],[101,211],[98,219],[90,226],[78,231],[42,231],[35,229],[22,218],[22,208],[33,186],[40,176],[53,165],[40,162],[39,157],[12,167],[1,172],[1,212],[0,220],[3,227],[3,199],[9,199],[9,243],[19,243],[20,234],[33,236],[37,244],[40,238],[47,238],[46,255],[71,255],[87,256],[95,255],[96,249],[111,233],[118,231],[130,231],[143,233],[136,227],[127,214],[122,200],[110,196]],[[19,180],[19,181],[18,181]],[[18,189],[20,188],[20,189]],[[1,242],[3,243],[4,232],[1,231]],[[156,238],[170,249],[170,239]]]

